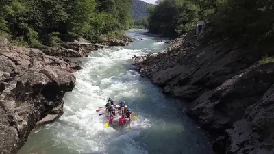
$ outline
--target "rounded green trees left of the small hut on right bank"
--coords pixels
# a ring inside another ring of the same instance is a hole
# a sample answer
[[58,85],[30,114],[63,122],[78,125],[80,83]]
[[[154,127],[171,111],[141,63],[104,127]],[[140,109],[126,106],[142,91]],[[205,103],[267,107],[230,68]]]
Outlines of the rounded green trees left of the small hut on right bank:
[[184,34],[199,21],[198,10],[192,1],[158,1],[158,5],[148,9],[148,29],[166,36]]

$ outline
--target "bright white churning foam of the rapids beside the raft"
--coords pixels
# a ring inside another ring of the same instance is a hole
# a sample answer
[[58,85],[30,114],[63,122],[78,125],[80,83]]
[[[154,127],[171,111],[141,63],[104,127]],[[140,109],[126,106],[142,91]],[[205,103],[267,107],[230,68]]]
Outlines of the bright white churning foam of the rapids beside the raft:
[[[111,151],[108,149],[109,144],[118,142],[118,140],[130,140],[124,144],[122,149],[119,149],[122,153],[146,153],[131,138],[138,136],[142,128],[150,127],[148,119],[138,116],[138,121],[133,120],[131,124],[133,129],[125,128],[121,133],[112,127],[104,128],[107,119],[105,116],[99,116],[99,113],[102,112],[95,112],[98,107],[103,107],[106,99],[113,94],[117,101],[123,99],[120,96],[134,95],[136,90],[132,88],[132,85],[138,82],[134,80],[135,77],[138,77],[134,71],[129,70],[124,73],[116,73],[116,75],[110,73],[110,76],[102,74],[117,62],[125,62],[124,60],[132,58],[134,54],[146,54],[143,50],[116,47],[115,50],[101,49],[90,55],[91,58],[84,64],[83,69],[75,73],[77,77],[75,89],[66,94],[64,98],[66,116],[62,116],[60,121],[66,125],[62,125],[54,138],[55,141],[58,140],[64,146],[73,147],[79,153],[105,153],[105,151]],[[68,141],[63,142],[63,140]]]

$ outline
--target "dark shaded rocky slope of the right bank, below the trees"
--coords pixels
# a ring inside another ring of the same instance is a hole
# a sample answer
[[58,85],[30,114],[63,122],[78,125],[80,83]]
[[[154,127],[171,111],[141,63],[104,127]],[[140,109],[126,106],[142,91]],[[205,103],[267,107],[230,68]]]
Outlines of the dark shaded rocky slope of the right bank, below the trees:
[[274,153],[274,63],[261,61],[274,48],[203,47],[191,36],[134,57],[138,73],[189,102],[184,112],[216,139],[216,153]]

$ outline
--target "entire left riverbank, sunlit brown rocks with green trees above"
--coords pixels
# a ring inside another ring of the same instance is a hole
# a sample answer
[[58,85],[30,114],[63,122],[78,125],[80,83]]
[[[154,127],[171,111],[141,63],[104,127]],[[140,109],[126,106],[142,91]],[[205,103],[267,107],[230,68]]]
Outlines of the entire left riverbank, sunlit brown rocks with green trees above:
[[63,114],[65,92],[85,57],[125,45],[133,25],[127,0],[0,1],[0,153],[17,153],[29,133]]

